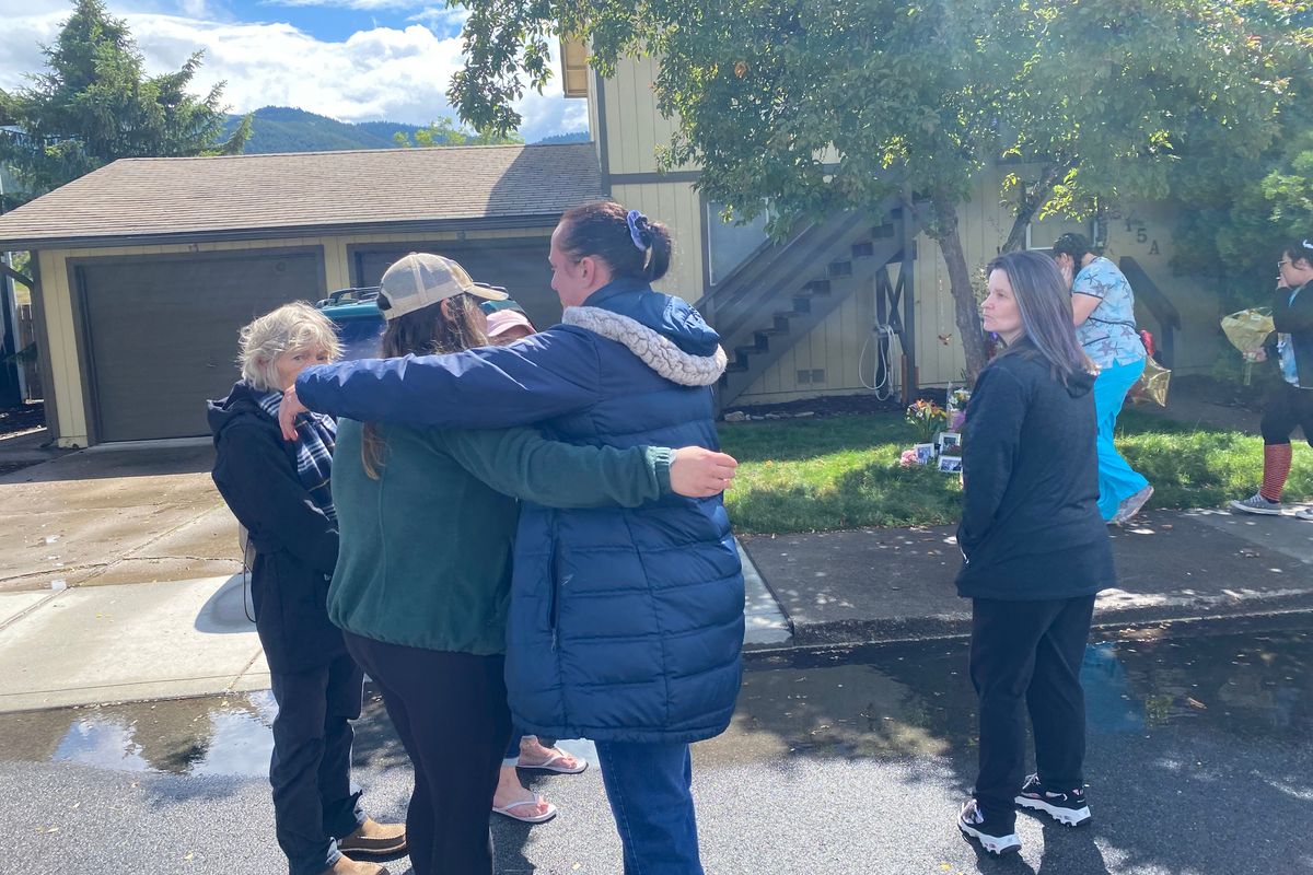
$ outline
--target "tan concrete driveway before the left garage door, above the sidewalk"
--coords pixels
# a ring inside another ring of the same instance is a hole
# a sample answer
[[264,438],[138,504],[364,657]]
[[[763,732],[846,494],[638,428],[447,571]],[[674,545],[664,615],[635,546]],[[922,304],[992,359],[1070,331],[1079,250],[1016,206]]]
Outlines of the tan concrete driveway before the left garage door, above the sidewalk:
[[0,476],[0,592],[228,576],[209,445],[84,450]]

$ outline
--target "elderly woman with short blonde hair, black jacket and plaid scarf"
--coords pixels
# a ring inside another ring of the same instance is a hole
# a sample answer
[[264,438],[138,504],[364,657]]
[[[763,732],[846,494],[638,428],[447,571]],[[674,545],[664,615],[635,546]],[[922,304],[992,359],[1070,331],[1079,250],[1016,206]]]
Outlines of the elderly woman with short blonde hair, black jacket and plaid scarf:
[[282,391],[337,354],[322,312],[303,302],[278,307],[242,329],[242,379],[209,403],[214,483],[256,548],[256,630],[278,703],[269,783],[290,875],[379,875],[387,870],[344,854],[406,850],[404,829],[366,817],[351,787],[351,722],[360,716],[364,674],[326,601],[337,563],[330,488],[336,425],[302,415],[295,443],[278,430]]

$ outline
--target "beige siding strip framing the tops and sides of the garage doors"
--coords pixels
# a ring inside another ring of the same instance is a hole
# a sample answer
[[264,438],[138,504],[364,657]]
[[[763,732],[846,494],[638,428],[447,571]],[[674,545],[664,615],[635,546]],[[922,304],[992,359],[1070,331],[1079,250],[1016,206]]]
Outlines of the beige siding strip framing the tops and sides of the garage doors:
[[[307,236],[280,237],[276,240],[240,240],[228,243],[197,243],[171,245],[139,245],[85,249],[43,249],[41,257],[41,295],[46,312],[46,328],[50,333],[50,388],[55,395],[55,408],[59,416],[59,445],[87,446],[87,416],[83,403],[84,386],[79,367],[80,349],[74,320],[74,296],[68,285],[70,258],[98,258],[122,256],[176,254],[188,252],[232,252],[244,249],[285,249],[291,247],[320,247],[324,253],[324,289],[327,294],[335,289],[351,286],[351,262],[347,247],[369,243],[408,243],[456,239],[525,237],[541,235],[544,243],[551,235],[551,227],[490,230],[436,234],[369,234],[347,236]],[[700,268],[699,268],[700,269]]]

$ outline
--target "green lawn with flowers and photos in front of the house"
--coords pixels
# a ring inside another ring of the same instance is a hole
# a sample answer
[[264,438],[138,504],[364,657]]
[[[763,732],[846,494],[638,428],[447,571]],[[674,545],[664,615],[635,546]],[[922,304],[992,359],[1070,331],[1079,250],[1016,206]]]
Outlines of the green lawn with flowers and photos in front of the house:
[[[1257,415],[1255,415],[1257,416]],[[1221,506],[1253,495],[1263,471],[1257,437],[1196,429],[1128,411],[1119,446],[1154,487],[1150,508]],[[957,478],[901,468],[915,442],[901,416],[739,422],[721,426],[723,449],[739,460],[726,505],[744,534],[957,521]],[[1313,451],[1295,447],[1287,497],[1313,495]]]

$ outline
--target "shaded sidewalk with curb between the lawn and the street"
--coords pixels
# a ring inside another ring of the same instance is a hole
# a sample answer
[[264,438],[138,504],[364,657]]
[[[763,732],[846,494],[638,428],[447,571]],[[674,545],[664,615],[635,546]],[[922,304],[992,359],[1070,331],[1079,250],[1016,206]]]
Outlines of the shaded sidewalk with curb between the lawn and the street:
[[[1095,623],[1144,624],[1313,610],[1313,523],[1222,510],[1155,510],[1112,530],[1119,586]],[[872,529],[743,538],[793,643],[966,635],[953,585],[953,529]]]

